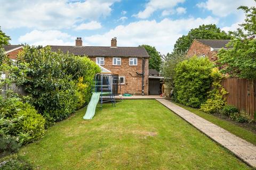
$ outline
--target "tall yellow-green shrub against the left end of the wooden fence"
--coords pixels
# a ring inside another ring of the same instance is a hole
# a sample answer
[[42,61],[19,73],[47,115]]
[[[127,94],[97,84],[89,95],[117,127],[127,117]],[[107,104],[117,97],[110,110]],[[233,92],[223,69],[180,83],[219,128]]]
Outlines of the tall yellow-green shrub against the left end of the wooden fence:
[[211,77],[213,89],[208,92],[207,100],[200,108],[206,113],[216,113],[226,105],[223,95],[227,94],[227,91],[221,86],[222,75],[217,68],[212,69]]

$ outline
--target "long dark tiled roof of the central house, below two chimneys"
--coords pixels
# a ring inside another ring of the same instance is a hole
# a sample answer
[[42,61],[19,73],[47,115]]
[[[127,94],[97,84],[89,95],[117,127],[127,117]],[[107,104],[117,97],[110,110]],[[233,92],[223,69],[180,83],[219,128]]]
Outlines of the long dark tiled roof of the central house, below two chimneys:
[[144,47],[51,46],[53,52],[87,56],[149,57]]

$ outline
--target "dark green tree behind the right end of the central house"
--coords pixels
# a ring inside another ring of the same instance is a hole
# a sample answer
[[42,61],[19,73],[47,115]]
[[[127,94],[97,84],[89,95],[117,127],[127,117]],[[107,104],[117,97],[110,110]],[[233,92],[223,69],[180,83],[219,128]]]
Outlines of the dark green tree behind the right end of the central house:
[[149,45],[141,45],[139,47],[144,47],[149,55],[149,69],[155,69],[158,72],[160,71],[161,66],[161,54],[157,52],[155,47]]

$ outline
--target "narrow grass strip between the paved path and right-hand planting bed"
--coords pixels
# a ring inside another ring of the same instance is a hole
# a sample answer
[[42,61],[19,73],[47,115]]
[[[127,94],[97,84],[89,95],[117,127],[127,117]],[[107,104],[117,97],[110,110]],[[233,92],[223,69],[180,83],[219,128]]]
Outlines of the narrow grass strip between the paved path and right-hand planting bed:
[[[173,101],[172,101],[173,102]],[[174,102],[173,102],[174,103]],[[220,126],[221,128],[223,129],[226,129],[227,131],[237,135],[238,137],[248,141],[248,142],[251,142],[253,145],[256,145],[256,134],[245,129],[245,128],[242,128],[234,123],[231,123],[227,120],[223,120],[219,117],[216,117],[214,115],[211,115],[211,114],[207,114],[207,113],[204,113],[202,111],[199,111],[198,109],[196,108],[192,108],[192,107],[189,107],[189,106],[185,106],[185,105],[182,105],[182,104],[179,104],[179,103],[175,103],[176,105],[179,105],[180,107],[183,107],[185,109],[187,109],[188,111],[204,118],[205,120],[207,121],[210,121],[218,126]]]

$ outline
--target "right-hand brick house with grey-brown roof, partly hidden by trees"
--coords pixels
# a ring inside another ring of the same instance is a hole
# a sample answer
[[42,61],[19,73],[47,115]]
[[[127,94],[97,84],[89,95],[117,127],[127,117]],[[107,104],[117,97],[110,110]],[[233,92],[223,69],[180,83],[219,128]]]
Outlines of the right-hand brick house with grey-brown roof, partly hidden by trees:
[[207,56],[210,61],[214,62],[217,60],[218,51],[221,48],[226,48],[226,45],[230,40],[226,39],[194,39],[190,45],[187,56]]

